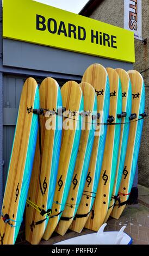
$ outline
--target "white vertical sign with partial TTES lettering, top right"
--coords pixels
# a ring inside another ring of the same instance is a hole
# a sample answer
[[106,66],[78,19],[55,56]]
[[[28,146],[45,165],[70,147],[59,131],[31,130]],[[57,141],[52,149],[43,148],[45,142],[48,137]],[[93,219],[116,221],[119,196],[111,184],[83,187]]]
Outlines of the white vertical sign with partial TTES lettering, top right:
[[134,38],[142,40],[141,0],[124,1],[124,28],[134,32]]

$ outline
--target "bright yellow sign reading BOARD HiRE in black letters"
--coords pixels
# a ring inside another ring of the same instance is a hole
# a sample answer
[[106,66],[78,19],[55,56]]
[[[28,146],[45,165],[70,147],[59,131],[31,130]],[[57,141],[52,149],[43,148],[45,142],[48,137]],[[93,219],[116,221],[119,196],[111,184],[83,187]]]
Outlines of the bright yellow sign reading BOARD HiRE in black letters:
[[32,0],[3,0],[3,37],[135,62],[133,32]]

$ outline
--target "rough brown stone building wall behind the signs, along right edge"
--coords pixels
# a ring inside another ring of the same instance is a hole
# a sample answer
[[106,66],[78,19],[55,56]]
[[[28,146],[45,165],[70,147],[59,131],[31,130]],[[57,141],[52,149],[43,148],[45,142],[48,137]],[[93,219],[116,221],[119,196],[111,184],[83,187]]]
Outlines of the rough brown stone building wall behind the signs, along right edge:
[[[124,26],[124,0],[104,0],[90,15],[92,19],[107,22],[118,27]],[[144,44],[135,39],[135,64],[134,69],[138,70],[146,86],[149,86],[149,2],[142,0],[142,37],[147,38]],[[149,106],[149,88],[146,87],[146,109]],[[149,112],[148,112],[149,115]],[[144,129],[142,132],[141,147],[139,153],[139,184],[149,187],[149,116],[145,119]]]

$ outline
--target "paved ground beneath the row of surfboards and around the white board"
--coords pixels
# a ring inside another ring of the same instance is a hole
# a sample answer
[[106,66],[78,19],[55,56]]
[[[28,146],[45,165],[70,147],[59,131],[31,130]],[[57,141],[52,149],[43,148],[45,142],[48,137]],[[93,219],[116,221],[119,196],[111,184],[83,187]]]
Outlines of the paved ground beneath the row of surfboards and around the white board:
[[[127,205],[119,220],[109,218],[107,221],[106,231],[120,230],[126,225],[125,232],[133,239],[133,245],[149,245],[149,188],[138,185],[139,188],[139,204]],[[48,241],[42,240],[40,245],[52,245],[74,236],[93,233],[88,229],[83,229],[81,234],[68,230],[65,236],[53,233]],[[17,239],[19,244],[28,244],[24,239],[24,233],[20,234]]]

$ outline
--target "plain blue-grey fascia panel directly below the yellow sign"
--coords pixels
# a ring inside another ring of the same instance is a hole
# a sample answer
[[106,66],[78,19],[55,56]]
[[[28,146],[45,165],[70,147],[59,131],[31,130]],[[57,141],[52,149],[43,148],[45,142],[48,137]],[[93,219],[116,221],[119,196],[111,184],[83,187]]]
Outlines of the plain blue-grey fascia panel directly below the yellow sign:
[[55,72],[57,76],[58,74],[82,76],[92,63],[125,70],[132,68],[131,63],[3,39],[4,66]]

